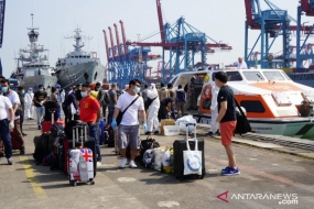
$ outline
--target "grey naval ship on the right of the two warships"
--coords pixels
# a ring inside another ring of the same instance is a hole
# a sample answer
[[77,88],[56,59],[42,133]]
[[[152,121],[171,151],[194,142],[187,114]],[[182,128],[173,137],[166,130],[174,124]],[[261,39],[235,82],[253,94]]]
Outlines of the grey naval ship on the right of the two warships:
[[106,78],[105,66],[97,58],[97,53],[82,51],[82,31],[76,29],[74,32],[75,35],[68,37],[75,40],[74,52],[69,52],[65,58],[58,58],[55,67],[57,84],[65,89],[78,84],[101,82]]

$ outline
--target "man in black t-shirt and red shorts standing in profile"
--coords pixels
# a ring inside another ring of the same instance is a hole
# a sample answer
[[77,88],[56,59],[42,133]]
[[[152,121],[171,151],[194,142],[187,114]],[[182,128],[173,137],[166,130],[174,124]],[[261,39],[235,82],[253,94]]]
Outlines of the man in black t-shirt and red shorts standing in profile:
[[236,156],[232,150],[231,139],[237,125],[236,102],[234,91],[227,85],[228,76],[225,72],[215,74],[215,84],[220,89],[217,96],[218,117],[217,123],[220,123],[221,144],[225,146],[228,156],[228,166],[221,169],[225,176],[240,174],[236,165]]

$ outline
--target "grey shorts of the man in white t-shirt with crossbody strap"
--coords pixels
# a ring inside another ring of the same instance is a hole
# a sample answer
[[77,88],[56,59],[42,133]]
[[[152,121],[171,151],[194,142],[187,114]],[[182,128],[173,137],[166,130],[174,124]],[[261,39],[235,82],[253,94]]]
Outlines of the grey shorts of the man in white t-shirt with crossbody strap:
[[118,147],[127,148],[130,144],[130,148],[139,150],[139,125],[123,125],[118,128]]

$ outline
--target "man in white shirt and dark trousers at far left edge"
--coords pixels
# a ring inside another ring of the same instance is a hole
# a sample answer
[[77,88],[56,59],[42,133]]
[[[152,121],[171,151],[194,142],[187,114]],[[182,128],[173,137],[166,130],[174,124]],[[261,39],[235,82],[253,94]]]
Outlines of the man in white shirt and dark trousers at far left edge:
[[21,110],[19,109],[19,106],[21,105],[19,95],[10,89],[10,82],[9,80],[1,80],[1,90],[3,92],[3,96],[8,97],[9,100],[11,101],[11,105],[13,107],[14,111],[14,121],[10,121],[10,124],[13,123],[14,125],[14,135],[17,138],[17,141],[20,143],[20,154],[23,155],[25,154],[25,146],[24,146],[24,140],[21,131],[21,125],[20,125],[20,114]]

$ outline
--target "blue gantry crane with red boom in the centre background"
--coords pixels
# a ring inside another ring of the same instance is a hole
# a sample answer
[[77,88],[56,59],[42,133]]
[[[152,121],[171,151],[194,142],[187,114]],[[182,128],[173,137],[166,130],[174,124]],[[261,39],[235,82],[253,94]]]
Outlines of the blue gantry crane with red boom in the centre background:
[[[169,81],[173,75],[181,72],[192,70],[196,63],[195,55],[197,53],[201,53],[202,67],[206,67],[207,53],[214,53],[214,48],[232,50],[228,44],[218,43],[198,31],[188,24],[184,18],[180,18],[173,24],[163,24],[161,0],[156,0],[156,10],[160,28],[158,33],[161,35],[161,42],[128,42],[127,45],[162,47],[162,81]],[[213,43],[207,43],[208,40]],[[169,58],[165,57],[166,51],[169,52]]]

